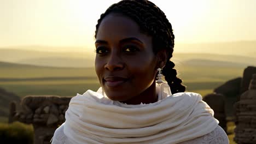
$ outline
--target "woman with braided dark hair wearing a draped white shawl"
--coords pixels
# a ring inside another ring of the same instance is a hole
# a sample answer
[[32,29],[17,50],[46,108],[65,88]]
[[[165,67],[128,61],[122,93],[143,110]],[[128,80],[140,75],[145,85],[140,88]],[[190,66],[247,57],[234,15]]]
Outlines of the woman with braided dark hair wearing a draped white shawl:
[[155,4],[111,5],[95,38],[101,88],[72,98],[53,143],[229,143],[201,95],[184,93],[172,26]]

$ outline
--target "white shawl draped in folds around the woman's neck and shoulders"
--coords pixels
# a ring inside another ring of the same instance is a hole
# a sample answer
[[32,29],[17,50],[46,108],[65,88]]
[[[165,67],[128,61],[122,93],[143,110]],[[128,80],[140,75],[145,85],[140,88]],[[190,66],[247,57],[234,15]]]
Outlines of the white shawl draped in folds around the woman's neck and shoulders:
[[206,135],[218,125],[201,95],[188,92],[126,105],[89,90],[71,99],[65,117],[63,131],[72,143],[174,144]]

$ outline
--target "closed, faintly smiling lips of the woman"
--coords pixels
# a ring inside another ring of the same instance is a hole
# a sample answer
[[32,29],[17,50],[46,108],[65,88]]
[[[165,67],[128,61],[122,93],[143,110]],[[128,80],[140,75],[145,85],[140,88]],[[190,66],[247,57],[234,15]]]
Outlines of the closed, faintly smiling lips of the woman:
[[107,76],[104,77],[104,82],[107,87],[118,87],[123,85],[128,79],[122,76]]

